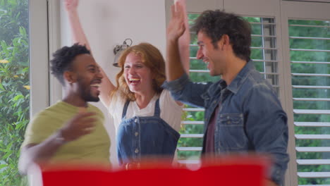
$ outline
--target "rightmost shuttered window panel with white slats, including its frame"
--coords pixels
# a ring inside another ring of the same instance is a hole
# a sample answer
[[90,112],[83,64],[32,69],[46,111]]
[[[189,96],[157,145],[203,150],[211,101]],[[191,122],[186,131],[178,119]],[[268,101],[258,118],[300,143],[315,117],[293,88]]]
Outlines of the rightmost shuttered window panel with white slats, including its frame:
[[282,1],[281,7],[284,103],[293,127],[287,180],[298,175],[297,185],[329,185],[330,4]]

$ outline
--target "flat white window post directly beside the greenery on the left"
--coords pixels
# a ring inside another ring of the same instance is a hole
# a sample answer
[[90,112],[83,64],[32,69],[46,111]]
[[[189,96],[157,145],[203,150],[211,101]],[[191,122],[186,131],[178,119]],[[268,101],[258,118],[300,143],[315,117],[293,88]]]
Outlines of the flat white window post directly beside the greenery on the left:
[[47,1],[29,1],[30,118],[49,106]]

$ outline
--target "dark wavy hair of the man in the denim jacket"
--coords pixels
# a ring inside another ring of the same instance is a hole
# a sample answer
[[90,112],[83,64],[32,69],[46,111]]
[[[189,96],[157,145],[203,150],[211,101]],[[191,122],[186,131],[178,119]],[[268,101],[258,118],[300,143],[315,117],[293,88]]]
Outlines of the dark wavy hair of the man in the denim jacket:
[[204,11],[195,21],[193,30],[210,37],[215,49],[221,37],[228,35],[236,56],[250,61],[251,27],[242,17],[219,10]]

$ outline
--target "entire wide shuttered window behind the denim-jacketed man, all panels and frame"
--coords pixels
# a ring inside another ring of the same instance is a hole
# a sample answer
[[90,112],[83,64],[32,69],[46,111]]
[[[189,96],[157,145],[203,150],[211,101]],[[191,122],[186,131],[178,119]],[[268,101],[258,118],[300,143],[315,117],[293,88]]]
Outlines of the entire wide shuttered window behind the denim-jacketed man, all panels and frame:
[[[288,114],[291,161],[284,185],[330,185],[330,2],[187,3],[190,23],[207,9],[224,9],[250,22],[251,58],[276,89]],[[191,39],[190,77],[195,82],[218,80],[209,77],[204,64],[195,58],[195,33]],[[188,117],[183,121],[178,159],[181,163],[197,163],[202,149],[204,110],[189,107],[185,110]]]

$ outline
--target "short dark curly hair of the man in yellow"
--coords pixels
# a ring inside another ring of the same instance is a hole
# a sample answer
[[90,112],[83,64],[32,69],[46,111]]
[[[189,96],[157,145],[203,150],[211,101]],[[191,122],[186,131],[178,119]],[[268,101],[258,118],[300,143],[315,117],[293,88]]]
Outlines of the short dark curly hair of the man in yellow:
[[72,62],[75,56],[80,54],[90,54],[90,51],[86,46],[79,45],[78,43],[73,44],[73,46],[63,46],[58,49],[53,54],[53,59],[51,59],[51,74],[64,85],[63,73],[72,69]]

